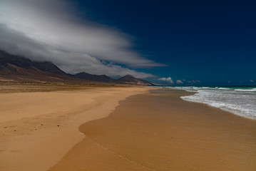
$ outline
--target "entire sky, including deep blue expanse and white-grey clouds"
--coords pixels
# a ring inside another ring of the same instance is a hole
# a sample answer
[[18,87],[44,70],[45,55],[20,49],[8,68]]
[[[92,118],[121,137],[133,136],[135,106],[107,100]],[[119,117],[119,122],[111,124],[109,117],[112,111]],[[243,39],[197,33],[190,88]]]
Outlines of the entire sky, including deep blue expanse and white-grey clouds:
[[256,85],[255,1],[0,0],[0,49],[67,73]]

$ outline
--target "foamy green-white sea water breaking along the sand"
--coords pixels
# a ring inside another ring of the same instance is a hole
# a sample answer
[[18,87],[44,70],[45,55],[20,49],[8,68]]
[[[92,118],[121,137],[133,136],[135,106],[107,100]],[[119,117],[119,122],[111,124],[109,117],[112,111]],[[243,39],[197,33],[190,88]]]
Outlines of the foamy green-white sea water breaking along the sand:
[[256,86],[242,87],[169,87],[194,92],[183,100],[205,103],[236,115],[256,120]]

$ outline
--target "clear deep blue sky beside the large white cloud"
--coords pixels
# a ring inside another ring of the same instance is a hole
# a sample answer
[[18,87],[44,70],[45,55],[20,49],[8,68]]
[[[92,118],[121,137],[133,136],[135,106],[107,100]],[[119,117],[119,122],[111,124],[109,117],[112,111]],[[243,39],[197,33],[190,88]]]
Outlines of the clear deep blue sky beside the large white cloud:
[[[81,16],[133,36],[173,80],[256,82],[255,1],[77,1]],[[153,79],[151,79],[153,81]]]

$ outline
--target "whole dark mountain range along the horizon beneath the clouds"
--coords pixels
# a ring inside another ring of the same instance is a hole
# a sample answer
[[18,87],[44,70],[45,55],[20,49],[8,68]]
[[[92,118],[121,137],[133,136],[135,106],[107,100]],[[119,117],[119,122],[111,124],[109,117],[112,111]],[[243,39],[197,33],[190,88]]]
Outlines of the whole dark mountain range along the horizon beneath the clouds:
[[85,72],[71,75],[51,62],[31,61],[29,58],[14,56],[1,50],[0,82],[155,86],[154,83],[130,75],[118,79]]

